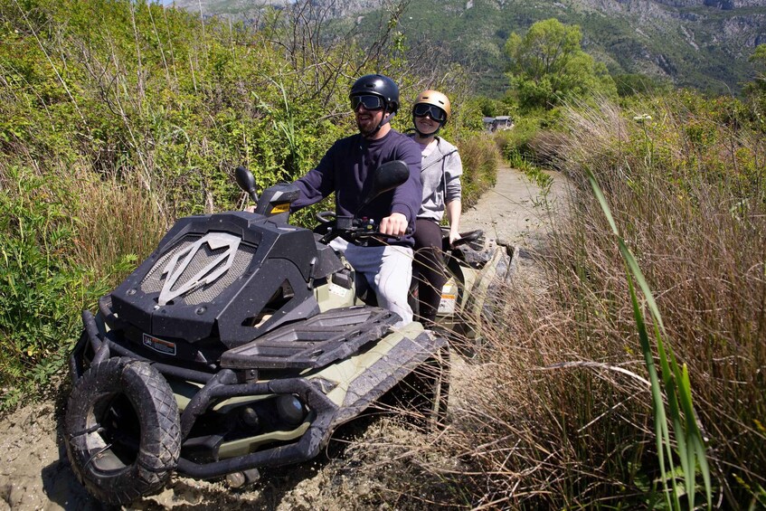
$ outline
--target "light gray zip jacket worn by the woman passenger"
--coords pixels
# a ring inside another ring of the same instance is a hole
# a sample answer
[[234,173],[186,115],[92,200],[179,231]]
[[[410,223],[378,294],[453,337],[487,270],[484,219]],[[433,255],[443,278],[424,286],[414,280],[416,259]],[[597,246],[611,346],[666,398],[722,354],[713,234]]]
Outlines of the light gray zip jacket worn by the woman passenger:
[[436,137],[436,147],[421,164],[423,203],[418,218],[441,222],[446,203],[459,201],[462,196],[460,175],[463,163],[458,148],[442,137]]

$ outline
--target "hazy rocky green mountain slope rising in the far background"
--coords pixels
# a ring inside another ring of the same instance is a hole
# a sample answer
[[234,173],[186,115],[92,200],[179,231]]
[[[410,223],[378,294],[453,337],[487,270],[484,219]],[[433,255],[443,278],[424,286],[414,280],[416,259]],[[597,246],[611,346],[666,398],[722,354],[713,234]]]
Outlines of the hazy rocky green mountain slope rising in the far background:
[[[242,15],[287,0],[176,0],[203,14]],[[383,0],[314,0],[340,31],[374,30]],[[472,72],[478,90],[506,87],[503,45],[547,18],[582,29],[582,46],[612,74],[642,73],[676,85],[735,93],[752,79],[747,61],[766,43],[766,0],[411,0],[400,18],[411,52],[447,52]]]

